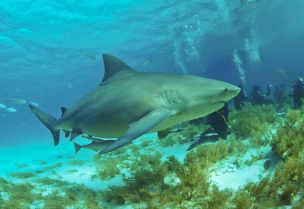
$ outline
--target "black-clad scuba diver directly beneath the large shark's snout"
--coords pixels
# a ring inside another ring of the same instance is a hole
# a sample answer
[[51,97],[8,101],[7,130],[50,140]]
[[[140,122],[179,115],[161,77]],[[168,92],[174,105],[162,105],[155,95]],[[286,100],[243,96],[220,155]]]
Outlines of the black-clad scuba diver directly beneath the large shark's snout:
[[230,128],[227,125],[227,122],[229,121],[229,109],[227,102],[225,102],[224,107],[206,117],[211,127],[205,130],[200,136],[199,141],[192,144],[187,151],[192,150],[207,140],[218,140],[219,138],[226,140],[227,135],[231,134]]

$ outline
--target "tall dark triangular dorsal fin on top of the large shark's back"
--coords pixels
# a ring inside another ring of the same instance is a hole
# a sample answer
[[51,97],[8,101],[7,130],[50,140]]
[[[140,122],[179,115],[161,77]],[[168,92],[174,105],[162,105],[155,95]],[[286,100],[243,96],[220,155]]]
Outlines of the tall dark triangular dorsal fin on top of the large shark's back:
[[113,55],[103,54],[102,57],[104,62],[104,77],[102,82],[105,82],[113,75],[122,71],[135,72],[134,69],[129,67],[125,62]]

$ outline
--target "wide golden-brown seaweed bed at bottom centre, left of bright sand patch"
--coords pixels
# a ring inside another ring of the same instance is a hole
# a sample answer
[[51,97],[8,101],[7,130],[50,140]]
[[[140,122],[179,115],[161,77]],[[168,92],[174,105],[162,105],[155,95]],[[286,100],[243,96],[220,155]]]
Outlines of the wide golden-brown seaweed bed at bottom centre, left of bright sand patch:
[[[140,154],[129,159],[129,178],[124,186],[109,186],[103,197],[109,202],[139,203],[136,208],[225,208],[232,204],[232,190],[220,191],[209,181],[210,166],[217,160],[235,153],[237,147],[220,140],[208,146],[199,146],[189,152],[181,163],[174,156],[163,161],[163,155]],[[243,201],[240,196],[234,201]],[[191,200],[191,204],[189,201]],[[248,201],[247,201],[248,202]],[[241,203],[239,203],[241,204]],[[244,207],[245,208],[245,207]]]

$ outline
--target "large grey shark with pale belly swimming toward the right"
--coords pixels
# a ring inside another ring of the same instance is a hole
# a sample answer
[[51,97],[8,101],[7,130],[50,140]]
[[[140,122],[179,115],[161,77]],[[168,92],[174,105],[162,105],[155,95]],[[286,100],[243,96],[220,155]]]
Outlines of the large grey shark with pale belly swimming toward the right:
[[99,154],[116,150],[146,133],[204,117],[234,98],[240,88],[212,79],[165,73],[140,73],[115,56],[103,54],[102,83],[59,120],[29,105],[59,143],[59,130],[70,141],[80,134],[118,138]]

